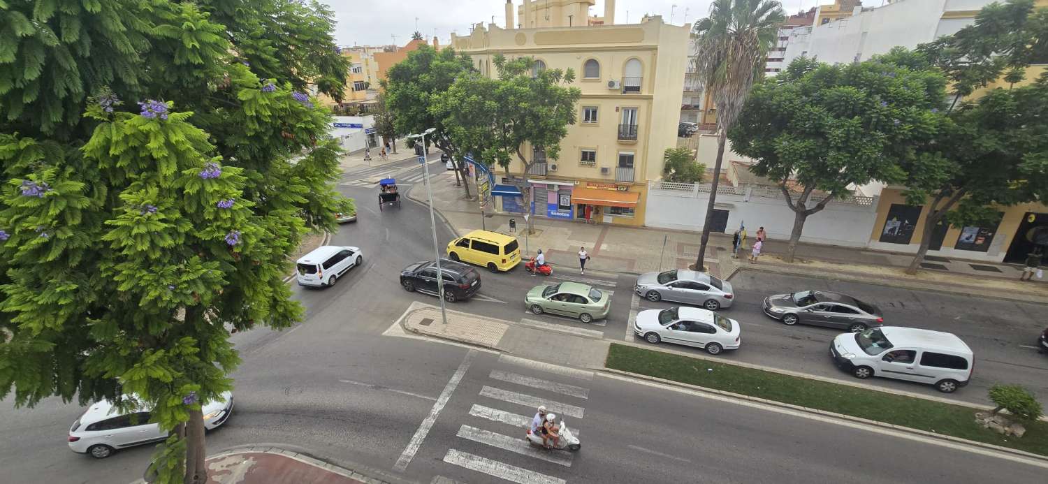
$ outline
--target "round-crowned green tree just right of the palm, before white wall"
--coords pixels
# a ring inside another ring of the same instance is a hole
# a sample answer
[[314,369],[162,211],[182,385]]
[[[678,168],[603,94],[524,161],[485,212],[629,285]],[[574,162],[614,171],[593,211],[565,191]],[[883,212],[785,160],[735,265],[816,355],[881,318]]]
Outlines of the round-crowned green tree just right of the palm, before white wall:
[[793,211],[786,262],[807,218],[831,200],[873,180],[900,182],[904,164],[935,158],[924,150],[944,122],[945,80],[926,66],[908,67],[915,56],[896,47],[834,66],[799,58],[754,88],[728,138],[736,153],[758,160],[750,171],[776,182]]

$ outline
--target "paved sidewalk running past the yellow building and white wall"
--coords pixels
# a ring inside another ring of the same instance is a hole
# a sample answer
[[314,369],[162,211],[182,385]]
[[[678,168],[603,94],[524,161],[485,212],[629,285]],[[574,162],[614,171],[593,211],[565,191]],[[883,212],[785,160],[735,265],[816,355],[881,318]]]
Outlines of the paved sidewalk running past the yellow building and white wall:
[[[424,191],[412,190],[408,196],[425,203]],[[478,228],[510,234],[509,219],[516,219],[516,236],[524,257],[541,248],[546,260],[554,265],[578,267],[575,255],[583,246],[592,258],[587,268],[627,273],[683,269],[695,262],[699,250],[698,233],[592,225],[543,217],[532,219],[536,233],[525,236],[522,215],[487,214],[482,218],[477,201],[466,199],[449,173],[434,177],[433,199],[434,207],[459,235]],[[756,228],[750,230],[749,242]],[[905,254],[801,243],[795,261],[787,264],[779,257],[786,246],[787,241],[770,240],[760,261],[749,264],[748,249],[740,249],[742,259],[730,257],[730,235],[711,234],[706,266],[712,274],[722,279],[730,278],[737,270],[751,269],[1012,301],[1048,301],[1048,279],[1021,282],[1020,269],[1010,264],[932,258],[917,274],[910,276],[904,270],[912,256]]]

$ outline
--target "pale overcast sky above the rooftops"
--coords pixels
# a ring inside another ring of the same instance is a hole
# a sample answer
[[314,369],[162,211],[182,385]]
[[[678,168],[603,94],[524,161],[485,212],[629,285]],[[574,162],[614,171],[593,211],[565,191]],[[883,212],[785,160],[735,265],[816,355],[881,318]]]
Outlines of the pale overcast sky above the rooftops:
[[[418,18],[418,31],[430,40],[434,36],[440,38],[441,45],[451,38],[451,32],[465,35],[470,25],[478,22],[485,24],[492,21],[500,26],[505,23],[505,0],[322,0],[331,5],[339,20],[335,28],[335,41],[339,45],[387,45],[396,43],[403,45],[415,31]],[[543,2],[544,0],[537,0]],[[645,14],[661,15],[667,22],[682,25],[705,17],[711,0],[618,0],[615,3],[615,23],[626,23],[627,17],[632,23],[637,23]],[[523,0],[514,0],[514,5],[520,5]],[[795,14],[816,4],[833,3],[832,0],[783,0],[787,14]],[[863,0],[866,6],[877,6],[882,0]],[[674,7],[673,5],[676,5]],[[515,10],[515,14],[516,10]],[[604,15],[604,0],[596,0],[596,5],[590,8],[590,15]]]

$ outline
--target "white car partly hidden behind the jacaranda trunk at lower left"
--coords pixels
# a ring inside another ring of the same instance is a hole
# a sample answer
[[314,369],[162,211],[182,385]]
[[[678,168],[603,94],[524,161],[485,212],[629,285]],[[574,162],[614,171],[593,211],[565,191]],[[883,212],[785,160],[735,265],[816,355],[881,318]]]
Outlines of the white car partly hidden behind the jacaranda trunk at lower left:
[[[233,414],[233,394],[203,405],[203,427],[211,431],[225,423]],[[149,412],[121,414],[108,400],[94,403],[69,428],[69,448],[105,459],[118,448],[158,442],[168,438],[160,425],[149,422]]]

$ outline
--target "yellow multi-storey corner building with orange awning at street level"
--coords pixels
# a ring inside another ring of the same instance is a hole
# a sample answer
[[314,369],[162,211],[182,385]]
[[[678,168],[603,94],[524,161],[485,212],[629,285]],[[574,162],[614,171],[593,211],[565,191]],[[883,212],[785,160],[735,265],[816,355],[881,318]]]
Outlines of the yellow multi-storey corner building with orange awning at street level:
[[[543,3],[543,9],[545,7]],[[645,17],[638,24],[614,25],[614,5],[601,24],[574,24],[574,15],[592,1],[550,1],[553,26],[502,28],[479,25],[470,36],[452,36],[452,46],[470,54],[482,74],[498,74],[494,57],[532,57],[538,68],[574,69],[574,87],[582,90],[576,123],[561,141],[560,159],[525,147],[537,160],[526,180],[532,200],[518,205],[509,178],[497,173],[496,208],[563,218],[590,218],[602,223],[642,225],[648,180],[659,179],[662,154],[676,146],[677,122],[687,58],[687,26],[673,26],[661,17]],[[536,2],[525,2],[546,22]],[[574,6],[580,9],[571,9]],[[561,9],[553,9],[559,7]],[[530,9],[528,9],[530,8]],[[565,14],[573,12],[574,14]],[[506,3],[506,25],[512,4]],[[570,18],[568,16],[571,16]],[[585,15],[584,15],[585,16]],[[530,16],[522,23],[530,23]],[[501,172],[502,170],[499,170]],[[521,176],[522,167],[509,167]],[[500,181],[501,178],[501,181]]]

